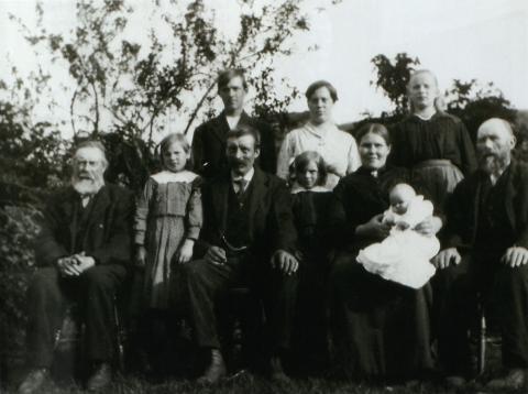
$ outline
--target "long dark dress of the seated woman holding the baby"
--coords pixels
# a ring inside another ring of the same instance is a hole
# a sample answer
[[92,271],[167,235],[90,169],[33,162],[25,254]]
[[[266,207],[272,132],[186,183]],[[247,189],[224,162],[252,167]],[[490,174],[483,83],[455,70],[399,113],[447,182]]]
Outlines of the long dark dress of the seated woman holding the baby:
[[388,190],[400,182],[409,183],[407,169],[382,169],[376,178],[361,167],[333,190],[329,220],[340,252],[329,278],[331,322],[349,376],[411,379],[432,368],[429,284],[405,287],[355,261],[360,249],[380,241],[355,236],[355,228],[387,209]]

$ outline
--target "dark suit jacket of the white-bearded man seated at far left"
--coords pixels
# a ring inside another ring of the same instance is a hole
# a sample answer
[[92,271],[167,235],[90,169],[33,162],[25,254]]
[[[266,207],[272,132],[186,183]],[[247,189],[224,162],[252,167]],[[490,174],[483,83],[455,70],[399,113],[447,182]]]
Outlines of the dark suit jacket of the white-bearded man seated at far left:
[[38,265],[85,251],[97,264],[127,264],[131,260],[131,220],[134,209],[130,191],[105,185],[91,201],[81,244],[75,244],[79,195],[73,187],[50,198],[40,236],[35,242]]

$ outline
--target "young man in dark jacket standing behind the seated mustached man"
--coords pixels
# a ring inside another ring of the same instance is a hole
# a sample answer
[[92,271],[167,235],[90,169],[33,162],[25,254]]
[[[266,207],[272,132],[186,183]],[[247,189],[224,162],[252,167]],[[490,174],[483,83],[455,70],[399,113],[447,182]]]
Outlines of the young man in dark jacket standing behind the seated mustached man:
[[218,95],[222,99],[223,111],[199,125],[193,136],[194,171],[206,178],[222,174],[228,167],[226,136],[237,127],[251,127],[261,134],[261,154],[256,158],[261,169],[275,174],[276,154],[272,128],[251,118],[244,111],[248,81],[240,68],[221,72],[217,79]]

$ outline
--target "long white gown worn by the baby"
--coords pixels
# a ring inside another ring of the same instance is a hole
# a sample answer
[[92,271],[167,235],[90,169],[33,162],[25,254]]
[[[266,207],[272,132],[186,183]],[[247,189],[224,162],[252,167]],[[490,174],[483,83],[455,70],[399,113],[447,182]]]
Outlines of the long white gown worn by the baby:
[[383,221],[406,222],[408,229],[393,227],[389,236],[378,243],[362,249],[358,262],[366,271],[385,280],[400,283],[413,288],[420,288],[435,274],[436,269],[429,262],[440,250],[436,237],[422,236],[413,228],[430,217],[432,204],[424,196],[416,196],[404,215],[395,214],[391,208],[383,215]]

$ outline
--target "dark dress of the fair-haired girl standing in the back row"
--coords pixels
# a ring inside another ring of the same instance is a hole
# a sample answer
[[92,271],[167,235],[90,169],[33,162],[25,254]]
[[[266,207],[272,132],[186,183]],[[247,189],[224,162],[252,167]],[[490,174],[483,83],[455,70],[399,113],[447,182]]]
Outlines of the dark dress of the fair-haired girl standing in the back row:
[[[476,169],[470,134],[464,123],[451,114],[437,112],[429,120],[409,116],[391,128],[391,140],[388,163],[418,172],[437,208],[443,207],[463,176]],[[439,160],[452,165],[431,162]]]

